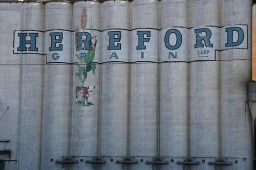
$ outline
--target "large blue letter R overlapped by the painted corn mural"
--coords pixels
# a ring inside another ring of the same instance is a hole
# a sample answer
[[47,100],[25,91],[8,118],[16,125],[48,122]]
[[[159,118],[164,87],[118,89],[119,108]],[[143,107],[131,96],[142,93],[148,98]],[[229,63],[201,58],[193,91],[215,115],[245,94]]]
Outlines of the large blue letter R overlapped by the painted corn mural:
[[[86,39],[82,39],[82,36],[86,36]],[[81,33],[76,33],[77,36],[77,45],[76,45],[76,51],[78,50],[83,50],[82,44],[84,47],[86,47],[85,50],[93,50],[93,48],[90,46],[90,41],[92,39],[92,36],[88,32],[81,32]]]

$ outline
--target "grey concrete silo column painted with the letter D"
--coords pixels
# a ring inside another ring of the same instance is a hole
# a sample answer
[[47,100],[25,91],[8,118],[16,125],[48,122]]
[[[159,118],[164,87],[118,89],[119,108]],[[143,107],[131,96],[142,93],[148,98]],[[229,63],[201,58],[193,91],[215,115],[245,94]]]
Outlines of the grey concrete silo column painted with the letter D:
[[[248,82],[251,79],[251,1],[221,3],[221,25],[248,23],[248,50],[222,51],[221,59],[221,153],[222,157],[245,158],[233,168],[252,169],[251,116],[245,112]],[[232,14],[238,14],[234,16]],[[248,17],[245,17],[248,16]],[[224,39],[223,39],[224,41]],[[237,59],[233,60],[233,59]],[[240,60],[245,59],[245,60]],[[230,61],[233,60],[233,61]],[[247,82],[247,83],[246,83]],[[225,169],[228,169],[227,167]]]

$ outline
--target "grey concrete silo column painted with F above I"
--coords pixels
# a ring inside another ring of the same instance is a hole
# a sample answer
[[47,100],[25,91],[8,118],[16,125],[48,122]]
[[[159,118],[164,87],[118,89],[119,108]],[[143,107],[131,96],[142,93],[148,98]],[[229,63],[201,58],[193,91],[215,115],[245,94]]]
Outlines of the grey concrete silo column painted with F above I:
[[[133,1],[131,29],[154,28],[159,29],[158,23],[159,3],[157,1]],[[141,20],[140,18],[145,18]],[[134,30],[137,31],[137,30]],[[133,34],[134,35],[134,34]],[[136,34],[135,34],[136,35]],[[136,50],[137,36],[132,36],[131,61],[158,61],[159,43],[158,32],[151,31],[151,43],[154,46],[146,46],[146,50]],[[144,45],[148,44],[144,42]],[[140,57],[140,53],[144,53]],[[157,63],[131,64],[130,75],[130,145],[129,156],[150,157],[158,156],[158,76]],[[149,159],[151,160],[151,159]],[[143,165],[132,165],[130,169],[145,169]]]

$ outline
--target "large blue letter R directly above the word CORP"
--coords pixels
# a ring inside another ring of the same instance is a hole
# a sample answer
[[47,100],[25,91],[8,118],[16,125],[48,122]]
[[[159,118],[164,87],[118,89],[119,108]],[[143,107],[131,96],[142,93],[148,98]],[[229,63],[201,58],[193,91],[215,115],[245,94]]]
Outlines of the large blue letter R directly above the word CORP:
[[[205,33],[205,36],[202,36],[202,33]],[[204,47],[204,44],[202,41],[205,43],[205,47],[213,47],[214,44],[210,43],[210,37],[211,37],[211,31],[207,28],[204,29],[196,29],[195,33],[197,34],[197,43],[195,44],[195,48],[199,47]]]

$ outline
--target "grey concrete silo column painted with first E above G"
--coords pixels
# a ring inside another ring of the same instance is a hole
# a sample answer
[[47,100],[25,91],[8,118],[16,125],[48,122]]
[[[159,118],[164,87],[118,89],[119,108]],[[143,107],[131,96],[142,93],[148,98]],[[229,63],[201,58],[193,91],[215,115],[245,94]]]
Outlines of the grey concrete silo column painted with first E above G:
[[[62,16],[62,19],[59,19]],[[45,6],[45,29],[72,29],[72,5],[69,3],[48,3]],[[66,46],[66,58],[71,60],[72,37]],[[47,51],[47,49],[45,49]],[[49,64],[44,72],[44,117],[42,119],[41,169],[59,169],[57,159],[69,155],[71,65]],[[50,162],[50,159],[54,159]]]

